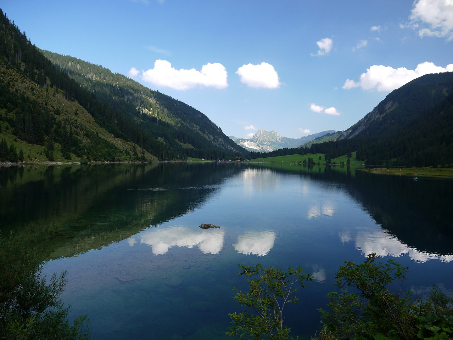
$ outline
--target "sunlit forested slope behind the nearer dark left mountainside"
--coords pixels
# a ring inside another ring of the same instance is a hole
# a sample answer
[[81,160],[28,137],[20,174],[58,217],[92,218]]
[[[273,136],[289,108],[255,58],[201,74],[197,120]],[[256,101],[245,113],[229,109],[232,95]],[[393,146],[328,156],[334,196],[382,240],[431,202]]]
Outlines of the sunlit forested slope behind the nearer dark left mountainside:
[[124,112],[149,136],[167,143],[172,150],[203,158],[216,158],[216,155],[219,158],[232,152],[247,153],[202,112],[181,101],[150,91],[131,78],[102,66],[49,51],[41,52],[83,88],[94,92],[101,102]]

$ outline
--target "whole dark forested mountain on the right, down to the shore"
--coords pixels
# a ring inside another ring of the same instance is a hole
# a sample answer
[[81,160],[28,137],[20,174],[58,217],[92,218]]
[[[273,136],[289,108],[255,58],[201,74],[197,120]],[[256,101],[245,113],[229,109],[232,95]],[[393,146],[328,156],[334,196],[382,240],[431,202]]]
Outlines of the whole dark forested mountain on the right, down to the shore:
[[453,72],[427,74],[390,92],[337,141],[302,148],[330,158],[357,151],[368,165],[451,166]]

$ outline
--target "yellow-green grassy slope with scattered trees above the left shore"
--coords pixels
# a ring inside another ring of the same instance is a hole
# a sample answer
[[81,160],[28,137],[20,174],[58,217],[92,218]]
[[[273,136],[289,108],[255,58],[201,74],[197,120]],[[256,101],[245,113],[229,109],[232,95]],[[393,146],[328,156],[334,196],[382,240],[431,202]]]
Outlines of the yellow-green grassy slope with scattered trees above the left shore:
[[[136,160],[137,145],[113,136],[77,102],[65,99],[61,89],[49,85],[39,86],[0,60],[0,141],[5,140],[8,148],[13,145],[18,154],[22,149],[25,163],[49,158],[56,162]],[[53,157],[46,152],[50,140]],[[145,159],[157,160],[148,152]],[[4,150],[0,160],[14,161]]]

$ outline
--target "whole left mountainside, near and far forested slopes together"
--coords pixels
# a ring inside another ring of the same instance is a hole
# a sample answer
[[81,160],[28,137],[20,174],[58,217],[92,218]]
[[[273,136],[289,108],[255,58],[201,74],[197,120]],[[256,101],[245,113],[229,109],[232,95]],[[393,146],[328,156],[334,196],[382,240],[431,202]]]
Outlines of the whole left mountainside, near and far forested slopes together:
[[1,10],[0,31],[1,160],[22,159],[20,148],[42,161],[52,149],[109,161],[248,153],[183,102],[77,58],[46,52],[51,61]]

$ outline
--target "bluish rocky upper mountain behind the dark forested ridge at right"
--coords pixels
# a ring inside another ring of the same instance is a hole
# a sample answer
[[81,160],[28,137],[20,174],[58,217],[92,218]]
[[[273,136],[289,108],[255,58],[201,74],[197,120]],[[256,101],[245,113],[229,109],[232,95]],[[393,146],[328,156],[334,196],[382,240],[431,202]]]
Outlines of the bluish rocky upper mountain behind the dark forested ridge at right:
[[453,72],[426,74],[392,91],[373,111],[343,131],[339,140],[388,137],[453,92]]

